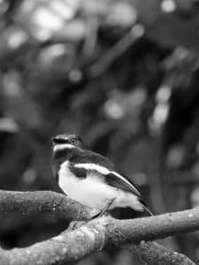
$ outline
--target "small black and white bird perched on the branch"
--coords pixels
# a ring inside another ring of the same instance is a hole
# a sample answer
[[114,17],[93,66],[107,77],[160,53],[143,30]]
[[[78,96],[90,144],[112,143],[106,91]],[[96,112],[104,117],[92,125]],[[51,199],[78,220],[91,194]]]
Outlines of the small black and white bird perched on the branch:
[[134,184],[114,170],[103,155],[88,150],[75,134],[52,138],[52,170],[57,183],[71,199],[100,210],[132,208],[152,215]]

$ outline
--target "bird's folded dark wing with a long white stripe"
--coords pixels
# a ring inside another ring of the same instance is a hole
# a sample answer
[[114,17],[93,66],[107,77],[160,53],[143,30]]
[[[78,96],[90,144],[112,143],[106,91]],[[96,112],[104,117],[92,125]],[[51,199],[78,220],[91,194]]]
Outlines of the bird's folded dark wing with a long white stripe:
[[[76,173],[82,172],[84,176],[87,176],[88,172],[96,172],[102,176],[105,182],[111,186],[114,186],[118,189],[126,191],[128,193],[134,193],[134,195],[141,197],[141,194],[135,188],[134,184],[127,178],[120,175],[114,170],[109,170],[106,167],[103,167],[100,164],[96,163],[75,163],[73,164],[73,170],[76,170]],[[81,176],[82,176],[81,173]]]

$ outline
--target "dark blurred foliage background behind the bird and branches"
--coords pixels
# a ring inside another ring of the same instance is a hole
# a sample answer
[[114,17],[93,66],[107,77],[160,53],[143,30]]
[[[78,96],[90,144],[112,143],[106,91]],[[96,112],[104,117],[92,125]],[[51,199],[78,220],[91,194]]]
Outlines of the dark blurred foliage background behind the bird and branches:
[[[78,133],[155,214],[199,204],[199,1],[0,1],[0,188],[59,191],[50,137]],[[4,248],[63,231],[0,216]],[[199,262],[198,233],[161,242]],[[125,251],[80,264],[141,264]]]

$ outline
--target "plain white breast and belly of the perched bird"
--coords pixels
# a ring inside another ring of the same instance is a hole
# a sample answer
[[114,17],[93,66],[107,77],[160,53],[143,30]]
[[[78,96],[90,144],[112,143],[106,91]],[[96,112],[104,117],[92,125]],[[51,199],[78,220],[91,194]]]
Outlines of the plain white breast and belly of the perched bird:
[[141,203],[133,193],[125,193],[107,185],[103,182],[103,177],[96,173],[89,173],[87,178],[77,178],[68,166],[68,162],[61,164],[58,171],[58,184],[71,199],[91,208],[103,209],[115,198],[111,208],[131,207],[142,210]]

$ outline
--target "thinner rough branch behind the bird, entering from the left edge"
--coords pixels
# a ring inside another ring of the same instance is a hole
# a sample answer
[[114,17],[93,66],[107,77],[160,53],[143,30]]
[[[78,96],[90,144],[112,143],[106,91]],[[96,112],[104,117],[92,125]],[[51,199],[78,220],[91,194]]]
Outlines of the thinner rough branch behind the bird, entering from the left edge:
[[31,215],[50,213],[67,221],[90,220],[97,212],[71,200],[61,193],[50,191],[10,192],[0,190],[0,214]]

